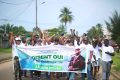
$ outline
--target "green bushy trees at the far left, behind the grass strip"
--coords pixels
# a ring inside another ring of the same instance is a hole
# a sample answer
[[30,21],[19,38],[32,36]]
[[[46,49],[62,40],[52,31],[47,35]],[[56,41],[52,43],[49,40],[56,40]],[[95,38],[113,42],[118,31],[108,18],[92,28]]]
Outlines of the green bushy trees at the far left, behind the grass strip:
[[9,46],[9,33],[13,32],[16,35],[22,35],[26,33],[26,30],[23,26],[14,26],[13,24],[3,24],[0,25],[0,44],[3,48]]

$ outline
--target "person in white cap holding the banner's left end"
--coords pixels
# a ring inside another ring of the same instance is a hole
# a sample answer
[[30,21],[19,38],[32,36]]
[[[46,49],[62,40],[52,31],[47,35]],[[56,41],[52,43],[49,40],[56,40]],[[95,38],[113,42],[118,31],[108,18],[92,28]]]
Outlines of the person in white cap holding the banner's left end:
[[9,34],[9,36],[10,36],[9,42],[10,42],[10,45],[12,45],[12,53],[13,53],[12,56],[14,60],[15,80],[18,80],[18,77],[19,77],[19,80],[22,80],[22,70],[20,68],[19,57],[17,54],[16,47],[23,46],[23,44],[21,42],[20,36],[14,37],[12,32]]

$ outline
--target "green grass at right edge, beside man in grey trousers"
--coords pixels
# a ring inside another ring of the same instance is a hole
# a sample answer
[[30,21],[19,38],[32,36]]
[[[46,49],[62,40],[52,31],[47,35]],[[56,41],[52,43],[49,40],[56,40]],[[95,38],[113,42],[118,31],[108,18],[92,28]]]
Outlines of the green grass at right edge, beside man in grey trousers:
[[113,70],[120,71],[120,53],[115,53],[113,57]]

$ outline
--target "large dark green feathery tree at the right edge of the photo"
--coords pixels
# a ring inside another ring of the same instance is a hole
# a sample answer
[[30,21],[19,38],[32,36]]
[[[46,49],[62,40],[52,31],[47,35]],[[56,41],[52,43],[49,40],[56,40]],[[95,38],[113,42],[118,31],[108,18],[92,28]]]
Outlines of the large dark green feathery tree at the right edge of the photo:
[[109,17],[109,21],[106,21],[105,23],[107,29],[112,33],[112,39],[120,44],[120,14],[115,11],[114,14]]

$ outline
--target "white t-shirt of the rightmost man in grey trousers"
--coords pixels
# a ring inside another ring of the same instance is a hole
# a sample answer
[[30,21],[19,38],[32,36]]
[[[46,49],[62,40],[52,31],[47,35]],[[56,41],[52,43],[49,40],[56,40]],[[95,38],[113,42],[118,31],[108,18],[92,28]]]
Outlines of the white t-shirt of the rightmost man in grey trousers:
[[114,49],[112,46],[102,46],[102,60],[103,61],[111,61],[112,60],[112,56],[106,54],[105,52],[110,52],[110,53],[114,53]]

